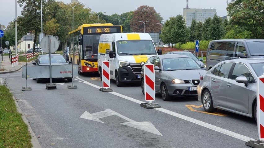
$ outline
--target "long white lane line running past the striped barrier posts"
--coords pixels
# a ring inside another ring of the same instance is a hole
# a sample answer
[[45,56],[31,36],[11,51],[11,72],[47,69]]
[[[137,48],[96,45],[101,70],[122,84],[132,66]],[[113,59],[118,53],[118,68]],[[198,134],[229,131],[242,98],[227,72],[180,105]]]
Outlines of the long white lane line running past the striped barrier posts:
[[[82,80],[81,78],[78,78],[78,79],[79,79],[79,80]],[[85,80],[82,80],[82,81],[85,81]],[[97,86],[97,85],[95,85],[95,84],[91,84],[91,83],[89,83],[89,82],[85,82],[85,84],[88,84],[88,85],[93,86],[93,87],[95,87],[95,88],[102,88],[102,87],[99,87],[99,86]],[[138,103],[138,104],[145,103],[145,102],[139,101],[139,100],[137,100],[137,99],[134,99],[134,98],[131,98],[131,97],[127,97],[127,96],[122,95],[122,94],[117,93],[117,92],[109,92],[109,93],[111,93],[111,94],[113,94],[113,95],[116,95],[116,96],[118,96],[118,97],[122,97],[122,98],[124,98],[124,99],[127,99],[127,100],[129,100],[129,101],[132,101],[132,102]],[[167,113],[167,114],[172,115],[172,116],[174,116],[174,117],[178,117],[178,118],[181,118],[181,119],[183,119],[183,120],[186,120],[186,121],[189,121],[189,122],[195,123],[195,124],[197,124],[197,125],[200,125],[200,126],[206,127],[206,128],[208,128],[208,129],[211,129],[211,130],[217,131],[217,132],[222,133],[222,134],[225,134],[225,135],[227,135],[227,136],[231,136],[231,137],[234,137],[234,138],[240,139],[240,140],[245,141],[245,142],[248,142],[248,141],[250,141],[250,140],[254,140],[253,138],[249,138],[249,137],[246,137],[246,136],[244,136],[244,135],[237,134],[237,133],[232,132],[232,131],[230,131],[230,130],[225,130],[225,129],[221,128],[221,127],[217,127],[217,126],[215,126],[215,125],[211,125],[211,124],[209,124],[209,123],[206,123],[206,122],[203,122],[203,121],[200,121],[200,120],[196,120],[196,119],[194,119],[194,118],[187,117],[187,116],[185,116],[185,115],[182,115],[182,114],[179,114],[179,113],[175,113],[175,112],[172,112],[172,111],[167,110],[167,109],[157,108],[156,110],[161,111],[161,112],[163,112],[163,113]]]

